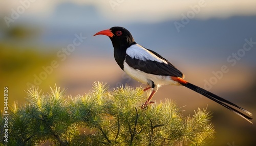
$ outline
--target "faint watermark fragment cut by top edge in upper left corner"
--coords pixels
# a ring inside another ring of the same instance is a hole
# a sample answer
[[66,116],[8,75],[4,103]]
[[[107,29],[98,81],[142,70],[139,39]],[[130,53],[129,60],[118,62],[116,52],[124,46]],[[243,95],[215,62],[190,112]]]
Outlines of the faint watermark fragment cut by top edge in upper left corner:
[[20,0],[20,5],[16,9],[11,9],[11,15],[10,17],[5,16],[4,20],[7,25],[7,27],[10,27],[10,23],[14,22],[16,19],[19,18],[21,14],[23,14],[26,9],[29,9],[31,6],[31,3],[34,3],[36,0]]

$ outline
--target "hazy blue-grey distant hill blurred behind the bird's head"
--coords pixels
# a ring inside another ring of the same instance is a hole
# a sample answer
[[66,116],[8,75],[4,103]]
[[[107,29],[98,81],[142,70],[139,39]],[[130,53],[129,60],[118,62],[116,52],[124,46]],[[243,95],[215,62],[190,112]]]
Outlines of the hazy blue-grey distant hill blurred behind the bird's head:
[[[64,42],[67,45],[73,40],[75,33],[82,33],[87,40],[79,46],[82,49],[75,51],[76,54],[90,51],[92,56],[96,56],[98,52],[112,56],[110,40],[92,35],[103,29],[122,26],[133,34],[139,44],[164,54],[167,59],[183,57],[198,62],[205,59],[209,62],[226,61],[229,55],[243,48],[244,39],[252,38],[256,41],[256,16],[190,19],[184,28],[180,28],[180,32],[174,22],[181,23],[181,20],[117,23],[107,20],[95,6],[63,3],[46,20],[47,29],[42,41],[55,45]],[[241,61],[256,66],[254,50],[247,52]]]

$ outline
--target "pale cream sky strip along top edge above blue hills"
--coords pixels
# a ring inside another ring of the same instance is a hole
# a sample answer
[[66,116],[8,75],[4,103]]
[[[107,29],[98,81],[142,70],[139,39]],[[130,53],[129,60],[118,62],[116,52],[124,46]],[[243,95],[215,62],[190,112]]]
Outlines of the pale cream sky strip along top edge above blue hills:
[[[22,2],[25,2],[22,1]],[[35,1],[26,9],[24,15],[37,15],[38,17],[50,17],[61,3],[73,3],[79,6],[92,5],[106,19],[115,22],[147,21],[156,22],[166,19],[179,19],[180,14],[189,10],[189,6],[204,3],[207,9],[199,13],[196,18],[208,19],[211,17],[227,18],[234,15],[256,14],[253,0],[247,1]],[[9,14],[10,9],[20,6],[20,1],[1,1],[2,13]],[[115,12],[115,11],[118,11]]]

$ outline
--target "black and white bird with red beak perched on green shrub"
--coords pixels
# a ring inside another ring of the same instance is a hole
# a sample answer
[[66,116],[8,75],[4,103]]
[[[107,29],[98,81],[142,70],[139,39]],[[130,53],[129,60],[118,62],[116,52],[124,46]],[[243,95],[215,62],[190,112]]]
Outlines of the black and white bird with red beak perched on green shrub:
[[152,89],[150,96],[142,107],[147,107],[154,103],[151,99],[162,85],[182,85],[215,101],[252,124],[250,121],[250,119],[252,119],[252,117],[250,117],[252,113],[214,93],[184,80],[185,76],[179,69],[158,53],[136,43],[132,34],[125,28],[112,27],[107,30],[99,31],[93,36],[96,35],[105,35],[110,38],[114,47],[114,58],[117,64],[131,78],[147,85],[143,91]]

